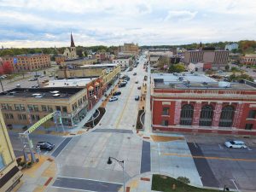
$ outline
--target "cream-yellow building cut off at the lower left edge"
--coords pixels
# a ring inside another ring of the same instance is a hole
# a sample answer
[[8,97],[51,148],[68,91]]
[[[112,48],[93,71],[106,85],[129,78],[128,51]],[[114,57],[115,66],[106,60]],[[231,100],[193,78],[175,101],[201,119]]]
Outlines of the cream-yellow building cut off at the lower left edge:
[[22,172],[17,166],[14,149],[0,110],[0,191],[12,191],[20,182]]

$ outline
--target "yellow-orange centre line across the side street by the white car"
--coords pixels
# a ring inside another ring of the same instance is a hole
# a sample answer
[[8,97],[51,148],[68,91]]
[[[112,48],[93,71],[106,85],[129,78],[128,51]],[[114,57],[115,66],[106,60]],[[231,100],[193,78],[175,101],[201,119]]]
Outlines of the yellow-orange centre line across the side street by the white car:
[[164,153],[162,155],[172,155],[177,157],[192,157],[195,159],[207,159],[207,160],[236,160],[236,161],[247,161],[247,162],[256,162],[256,159],[236,159],[236,158],[228,158],[228,157],[207,157],[207,156],[193,156],[191,154],[172,154],[172,153]]

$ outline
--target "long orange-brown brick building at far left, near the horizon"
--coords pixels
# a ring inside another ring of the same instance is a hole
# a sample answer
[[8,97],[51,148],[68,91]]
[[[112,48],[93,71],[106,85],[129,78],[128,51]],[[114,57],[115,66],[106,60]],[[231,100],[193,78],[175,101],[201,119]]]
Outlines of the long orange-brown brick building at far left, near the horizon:
[[50,67],[50,58],[46,54],[3,56],[3,62],[9,61],[15,72],[33,71]]

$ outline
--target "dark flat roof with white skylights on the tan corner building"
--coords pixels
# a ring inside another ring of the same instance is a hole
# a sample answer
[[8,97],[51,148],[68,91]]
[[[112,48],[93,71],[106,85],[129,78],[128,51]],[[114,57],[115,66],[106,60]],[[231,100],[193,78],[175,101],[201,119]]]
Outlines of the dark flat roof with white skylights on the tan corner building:
[[77,94],[84,88],[66,88],[66,87],[50,87],[50,88],[15,88],[0,93],[0,98],[24,97],[38,99],[61,99],[69,98]]

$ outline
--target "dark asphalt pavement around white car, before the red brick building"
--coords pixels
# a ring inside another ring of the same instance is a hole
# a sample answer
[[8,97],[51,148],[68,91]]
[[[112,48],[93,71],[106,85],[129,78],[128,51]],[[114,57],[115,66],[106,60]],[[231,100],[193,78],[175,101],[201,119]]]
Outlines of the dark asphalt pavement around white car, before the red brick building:
[[[256,139],[186,135],[203,185],[256,190]],[[224,142],[241,140],[248,148],[226,148]]]

